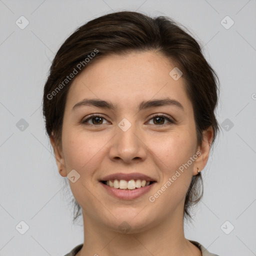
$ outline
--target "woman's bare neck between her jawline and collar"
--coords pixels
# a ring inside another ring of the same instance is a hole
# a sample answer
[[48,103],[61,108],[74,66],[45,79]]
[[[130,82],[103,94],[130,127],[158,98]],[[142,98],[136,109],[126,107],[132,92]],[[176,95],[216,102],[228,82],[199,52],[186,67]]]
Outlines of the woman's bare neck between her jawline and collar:
[[84,243],[76,256],[200,256],[201,251],[184,237],[180,212],[150,227],[121,233],[88,218],[83,211]]

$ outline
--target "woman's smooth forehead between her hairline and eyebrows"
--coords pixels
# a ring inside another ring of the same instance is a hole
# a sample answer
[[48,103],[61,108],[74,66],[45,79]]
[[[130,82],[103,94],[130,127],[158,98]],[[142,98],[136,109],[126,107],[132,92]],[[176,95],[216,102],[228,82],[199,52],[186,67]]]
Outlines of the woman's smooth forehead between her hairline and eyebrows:
[[167,57],[155,52],[103,56],[75,77],[66,103],[71,107],[83,98],[91,97],[127,107],[135,101],[167,96],[188,107],[190,102],[183,77],[174,80],[169,75],[174,67]]

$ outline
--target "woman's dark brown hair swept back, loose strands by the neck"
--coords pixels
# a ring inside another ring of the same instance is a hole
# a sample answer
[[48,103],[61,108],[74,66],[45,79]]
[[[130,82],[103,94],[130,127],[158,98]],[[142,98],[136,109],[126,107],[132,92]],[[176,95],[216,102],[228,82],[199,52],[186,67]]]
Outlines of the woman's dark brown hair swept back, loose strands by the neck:
[[[120,11],[95,18],[77,28],[58,49],[44,86],[43,115],[48,136],[53,132],[61,145],[64,106],[75,71],[80,72],[103,55],[153,50],[168,57],[182,71],[185,89],[192,102],[197,143],[202,131],[219,130],[214,110],[218,97],[218,77],[202,54],[199,43],[171,18],[149,17],[133,11]],[[70,74],[70,75],[69,75]],[[68,78],[67,78],[68,76]],[[192,177],[184,217],[202,196],[201,174]],[[73,199],[75,220],[81,208]]]

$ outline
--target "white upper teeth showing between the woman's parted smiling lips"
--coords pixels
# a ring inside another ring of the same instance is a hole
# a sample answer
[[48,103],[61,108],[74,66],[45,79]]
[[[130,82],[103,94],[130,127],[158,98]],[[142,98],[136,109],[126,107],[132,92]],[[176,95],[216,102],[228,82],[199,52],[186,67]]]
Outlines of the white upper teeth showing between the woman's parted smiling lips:
[[152,183],[155,183],[156,181],[147,181],[145,179],[114,179],[114,180],[101,180],[103,184],[116,188],[121,190],[133,190],[140,187],[151,185]]

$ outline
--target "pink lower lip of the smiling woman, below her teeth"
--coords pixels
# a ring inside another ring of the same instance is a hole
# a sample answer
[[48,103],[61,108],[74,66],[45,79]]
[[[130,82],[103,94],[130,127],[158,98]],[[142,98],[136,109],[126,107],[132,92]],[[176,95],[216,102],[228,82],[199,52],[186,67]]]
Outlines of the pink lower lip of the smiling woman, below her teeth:
[[119,199],[130,200],[130,199],[135,199],[135,198],[145,194],[146,192],[148,192],[152,188],[152,186],[154,185],[155,182],[150,185],[147,185],[147,186],[141,186],[139,188],[127,189],[127,190],[114,188],[114,187],[108,186],[102,182],[100,182],[100,183],[107,190],[107,192],[110,193],[111,195],[114,195],[115,197],[117,197]]

